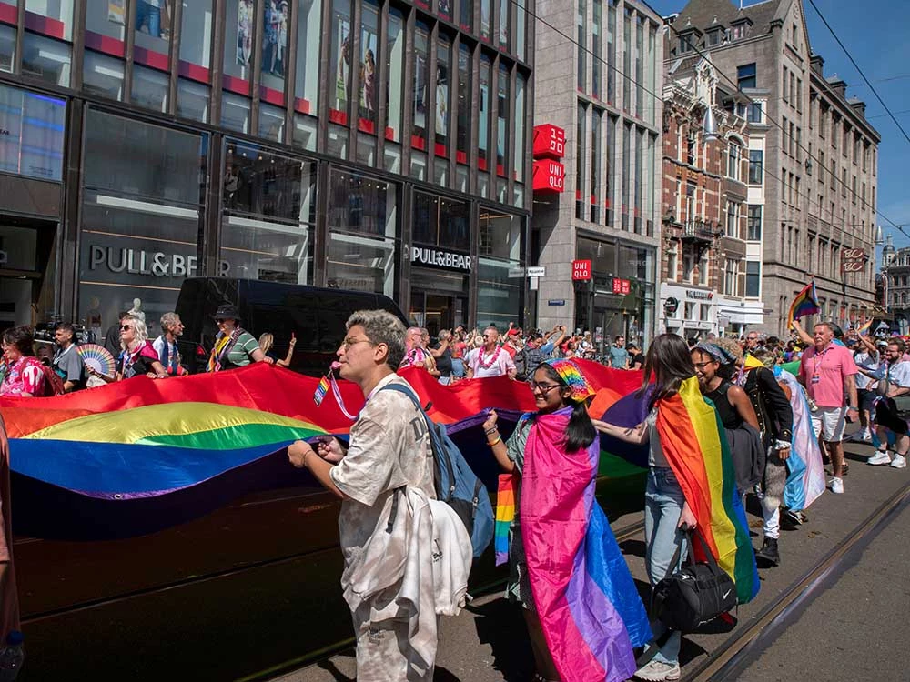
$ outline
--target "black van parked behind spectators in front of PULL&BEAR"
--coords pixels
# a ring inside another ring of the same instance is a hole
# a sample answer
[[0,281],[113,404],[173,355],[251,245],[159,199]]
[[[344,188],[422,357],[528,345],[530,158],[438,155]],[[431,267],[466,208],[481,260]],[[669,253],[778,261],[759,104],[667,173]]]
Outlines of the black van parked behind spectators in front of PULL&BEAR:
[[296,334],[290,368],[310,376],[326,373],[355,310],[388,310],[405,326],[410,324],[399,306],[382,294],[257,279],[191,277],[184,280],[177,297],[177,315],[184,325],[178,346],[190,372],[206,371],[218,331],[215,311],[224,303],[238,306],[240,326],[253,336],[271,332],[275,336],[272,351],[278,357],[288,353],[290,335]]

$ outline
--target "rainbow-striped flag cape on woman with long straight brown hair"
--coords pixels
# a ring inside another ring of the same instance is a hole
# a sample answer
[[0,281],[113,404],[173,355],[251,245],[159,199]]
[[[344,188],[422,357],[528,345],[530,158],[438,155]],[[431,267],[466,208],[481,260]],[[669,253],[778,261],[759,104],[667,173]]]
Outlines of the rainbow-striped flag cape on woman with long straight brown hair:
[[[750,601],[758,594],[758,570],[730,446],[717,410],[694,376],[682,382],[679,394],[659,401],[657,431],[711,553],[733,578],[739,603]],[[696,557],[702,553],[696,546]]]

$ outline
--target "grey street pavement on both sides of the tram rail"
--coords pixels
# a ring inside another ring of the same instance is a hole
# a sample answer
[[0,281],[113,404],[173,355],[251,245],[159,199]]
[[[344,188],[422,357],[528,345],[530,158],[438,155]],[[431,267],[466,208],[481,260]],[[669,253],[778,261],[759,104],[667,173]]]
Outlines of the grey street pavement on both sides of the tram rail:
[[[739,622],[733,632],[685,637],[683,678],[853,534],[885,499],[907,485],[910,469],[865,464],[873,452],[871,446],[847,444],[845,449],[851,464],[844,479],[845,494],[826,492],[807,511],[808,523],[784,530],[780,541],[782,565],[760,568],[759,596],[739,608]],[[609,500],[606,506],[609,511]],[[753,544],[758,547],[760,509],[751,504],[749,512]],[[634,520],[635,515],[619,518],[613,528],[627,527]],[[905,508],[867,547],[861,543],[854,548],[848,555],[852,564],[845,562],[846,566],[816,589],[814,600],[789,614],[792,623],[766,628],[757,660],[745,661],[747,668],[742,675],[729,678],[743,682],[910,679],[904,647],[900,646],[900,624],[910,607],[910,588],[905,582],[910,563],[908,522],[910,511]],[[643,591],[642,535],[623,541],[621,547]],[[531,678],[532,668],[521,613],[500,594],[480,597],[459,617],[443,619],[436,682],[525,682]],[[272,682],[353,682],[354,674],[353,651],[348,650],[275,677]]]

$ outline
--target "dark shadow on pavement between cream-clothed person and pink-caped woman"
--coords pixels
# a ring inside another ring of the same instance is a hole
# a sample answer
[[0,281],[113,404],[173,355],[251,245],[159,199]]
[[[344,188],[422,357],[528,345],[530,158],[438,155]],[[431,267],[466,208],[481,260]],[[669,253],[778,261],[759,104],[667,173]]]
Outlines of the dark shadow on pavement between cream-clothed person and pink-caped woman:
[[[521,607],[505,599],[496,599],[481,607],[469,607],[476,618],[477,637],[489,644],[493,654],[493,667],[502,673],[506,682],[526,682],[534,674],[534,655],[531,640],[521,617]],[[457,678],[439,677],[436,682],[454,681]]]

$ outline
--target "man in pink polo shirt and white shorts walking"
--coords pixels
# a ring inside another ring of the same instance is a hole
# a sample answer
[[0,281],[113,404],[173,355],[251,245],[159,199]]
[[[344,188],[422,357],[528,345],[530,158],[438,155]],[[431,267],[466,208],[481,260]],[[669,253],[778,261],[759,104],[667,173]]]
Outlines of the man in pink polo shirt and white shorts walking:
[[824,322],[813,328],[814,347],[807,348],[799,366],[799,380],[805,386],[812,409],[812,427],[831,455],[834,477],[831,492],[844,492],[845,419],[858,416],[856,363],[845,346],[834,344],[834,329]]

